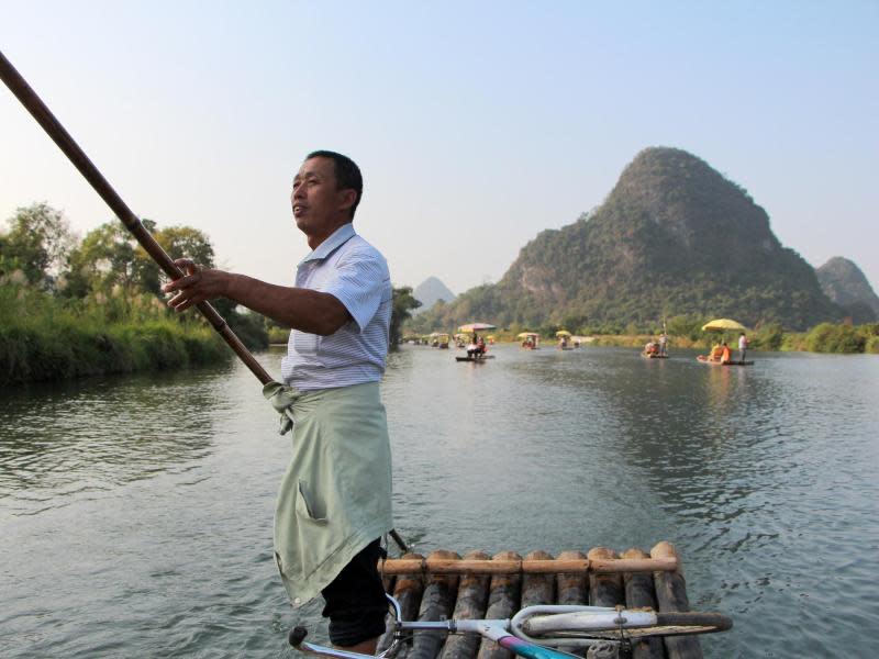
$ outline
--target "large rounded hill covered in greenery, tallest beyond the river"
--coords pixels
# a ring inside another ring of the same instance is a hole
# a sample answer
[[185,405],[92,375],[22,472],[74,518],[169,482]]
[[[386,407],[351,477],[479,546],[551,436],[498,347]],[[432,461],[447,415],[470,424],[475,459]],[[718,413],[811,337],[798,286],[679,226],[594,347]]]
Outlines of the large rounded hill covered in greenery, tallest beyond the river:
[[617,327],[700,314],[801,330],[838,320],[814,269],[738,185],[676,148],[647,148],[601,206],[525,245],[503,278],[423,321]]

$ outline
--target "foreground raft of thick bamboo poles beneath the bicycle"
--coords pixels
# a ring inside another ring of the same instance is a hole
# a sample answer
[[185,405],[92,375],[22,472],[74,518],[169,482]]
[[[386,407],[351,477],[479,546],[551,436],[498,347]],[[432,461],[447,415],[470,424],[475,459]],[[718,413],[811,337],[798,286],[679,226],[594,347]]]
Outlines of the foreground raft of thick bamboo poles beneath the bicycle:
[[[649,554],[628,549],[617,556],[603,547],[564,551],[553,557],[514,551],[493,557],[471,551],[464,557],[439,549],[424,557],[407,554],[379,562],[385,589],[400,602],[403,619],[509,618],[534,604],[649,606],[689,611],[683,570],[669,543]],[[379,651],[391,643],[391,630]],[[633,643],[635,659],[702,657],[698,636],[642,638]],[[581,654],[585,656],[585,651]],[[511,659],[514,655],[479,636],[415,635],[399,659]]]

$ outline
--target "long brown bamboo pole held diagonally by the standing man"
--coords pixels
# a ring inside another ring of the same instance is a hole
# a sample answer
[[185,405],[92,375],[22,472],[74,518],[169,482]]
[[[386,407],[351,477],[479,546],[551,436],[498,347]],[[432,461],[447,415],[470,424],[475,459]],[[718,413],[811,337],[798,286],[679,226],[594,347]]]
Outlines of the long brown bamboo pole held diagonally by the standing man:
[[[127,204],[122,201],[122,198],[110,186],[107,179],[103,178],[94,164],[89,159],[86,153],[74,141],[70,134],[65,130],[60,122],[55,119],[55,115],[49,111],[46,104],[37,96],[37,93],[27,85],[27,81],[15,70],[12,63],[7,59],[2,52],[0,52],[0,78],[3,79],[7,87],[15,94],[21,101],[21,104],[31,113],[36,122],[43,126],[43,130],[49,137],[58,145],[58,148],[64,152],[70,163],[74,164],[79,172],[86,180],[94,188],[94,191],[100,194],[101,199],[107,202],[107,205],[115,213],[116,217],[122,221],[141,246],[146,253],[153,257],[153,260],[158,264],[162,270],[171,279],[179,279],[183,276],[180,268],[178,268],[171,257],[162,248],[162,245],[156,243],[156,239],[146,231],[141,220],[135,215]],[[230,328],[216,310],[210,302],[199,302],[198,310],[202,315],[208,319],[211,326],[223,337],[223,340],[229,344],[234,353],[241,358],[242,361],[251,369],[260,383],[267,384],[271,382],[271,376],[266,372],[262,365],[245,347],[241,339]]]

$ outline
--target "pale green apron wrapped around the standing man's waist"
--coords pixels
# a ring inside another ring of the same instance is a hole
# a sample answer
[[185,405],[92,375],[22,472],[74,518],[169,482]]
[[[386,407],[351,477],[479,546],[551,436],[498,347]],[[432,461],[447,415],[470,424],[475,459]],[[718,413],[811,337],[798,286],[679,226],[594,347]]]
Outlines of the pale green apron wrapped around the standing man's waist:
[[293,429],[275,559],[299,606],[393,527],[388,424],[378,382],[309,392],[270,382],[263,393],[281,412],[281,433]]

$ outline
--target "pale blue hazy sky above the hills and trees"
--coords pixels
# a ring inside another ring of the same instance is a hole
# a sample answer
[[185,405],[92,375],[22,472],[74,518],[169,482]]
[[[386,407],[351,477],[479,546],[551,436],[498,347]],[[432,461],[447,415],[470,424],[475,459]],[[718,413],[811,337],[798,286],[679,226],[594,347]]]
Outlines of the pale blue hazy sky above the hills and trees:
[[[620,4],[622,7],[612,7]],[[292,282],[303,156],[364,171],[397,284],[497,281],[647,146],[744,186],[813,266],[879,284],[879,2],[0,0],[0,49],[122,198]],[[112,217],[0,86],[0,220]]]

